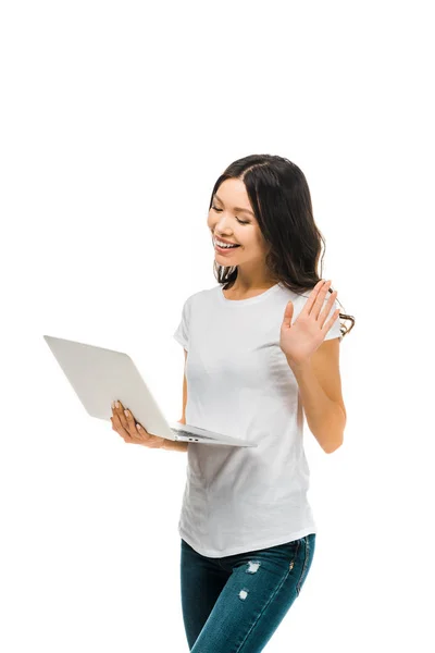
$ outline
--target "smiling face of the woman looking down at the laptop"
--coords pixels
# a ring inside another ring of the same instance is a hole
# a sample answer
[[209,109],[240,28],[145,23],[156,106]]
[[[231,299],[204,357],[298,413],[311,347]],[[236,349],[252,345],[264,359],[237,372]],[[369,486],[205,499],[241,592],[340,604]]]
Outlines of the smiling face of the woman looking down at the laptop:
[[214,238],[223,238],[239,245],[225,252],[214,248],[216,261],[221,266],[243,266],[264,263],[266,243],[253,215],[244,182],[237,178],[225,180],[217,188],[207,225]]

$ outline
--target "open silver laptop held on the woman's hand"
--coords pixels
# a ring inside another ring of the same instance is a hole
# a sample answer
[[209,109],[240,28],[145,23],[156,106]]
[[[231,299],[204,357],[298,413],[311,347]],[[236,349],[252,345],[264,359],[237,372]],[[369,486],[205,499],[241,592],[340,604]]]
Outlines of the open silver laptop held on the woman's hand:
[[119,399],[148,433],[177,442],[258,446],[256,442],[169,422],[132,358],[123,352],[105,349],[71,340],[45,335],[45,341],[91,417],[110,421],[112,402]]

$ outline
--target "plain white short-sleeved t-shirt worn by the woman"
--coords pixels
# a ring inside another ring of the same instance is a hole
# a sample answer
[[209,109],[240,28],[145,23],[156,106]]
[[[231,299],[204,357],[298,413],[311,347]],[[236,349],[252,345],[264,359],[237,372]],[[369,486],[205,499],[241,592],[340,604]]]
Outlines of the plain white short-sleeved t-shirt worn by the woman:
[[[287,303],[294,303],[294,322],[308,297],[278,283],[234,300],[219,284],[183,306],[174,338],[188,352],[186,423],[259,443],[188,444],[178,532],[204,556],[275,546],[316,531],[307,498],[302,404],[279,347]],[[328,318],[336,308],[337,300]],[[325,340],[333,337],[341,340],[339,318]]]

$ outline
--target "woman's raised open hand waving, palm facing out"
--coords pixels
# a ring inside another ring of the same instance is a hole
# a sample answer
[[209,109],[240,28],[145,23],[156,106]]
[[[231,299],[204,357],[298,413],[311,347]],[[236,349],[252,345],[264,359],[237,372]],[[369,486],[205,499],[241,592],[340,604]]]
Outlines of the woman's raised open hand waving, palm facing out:
[[313,287],[307,303],[293,324],[293,301],[289,301],[286,306],[281,326],[279,347],[284,352],[290,367],[291,365],[300,366],[310,361],[311,356],[319,349],[326,333],[338,318],[339,308],[334,311],[331,319],[325,323],[337,296],[336,291],[331,293],[328,301],[321,311],[330,285],[331,281],[326,281],[325,283],[321,279]]

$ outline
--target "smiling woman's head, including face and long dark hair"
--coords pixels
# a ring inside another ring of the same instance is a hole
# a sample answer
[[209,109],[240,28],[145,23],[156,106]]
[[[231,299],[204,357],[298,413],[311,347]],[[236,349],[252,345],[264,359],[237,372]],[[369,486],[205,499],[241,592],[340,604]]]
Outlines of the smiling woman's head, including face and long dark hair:
[[[322,279],[316,268],[324,238],[309,186],[300,168],[284,157],[251,155],[231,163],[213,186],[207,223],[214,238],[240,245],[215,248],[214,274],[224,288],[243,294],[281,282],[300,294]],[[351,322],[343,325],[346,335],[355,318],[339,317]]]

